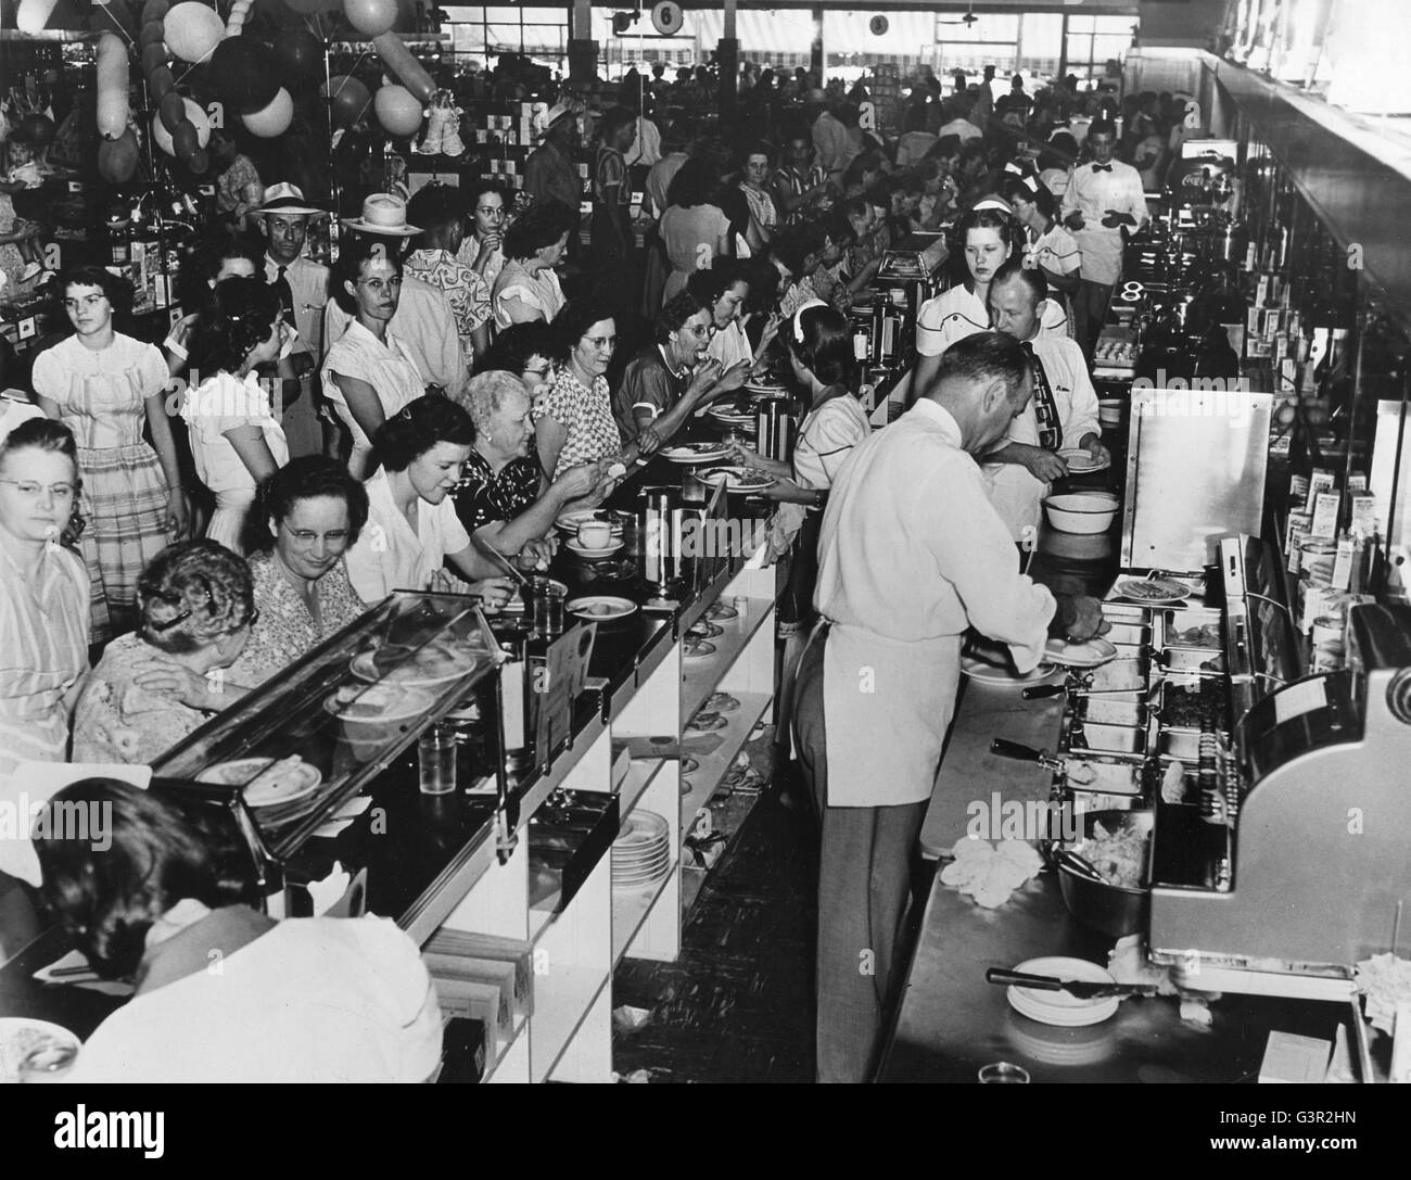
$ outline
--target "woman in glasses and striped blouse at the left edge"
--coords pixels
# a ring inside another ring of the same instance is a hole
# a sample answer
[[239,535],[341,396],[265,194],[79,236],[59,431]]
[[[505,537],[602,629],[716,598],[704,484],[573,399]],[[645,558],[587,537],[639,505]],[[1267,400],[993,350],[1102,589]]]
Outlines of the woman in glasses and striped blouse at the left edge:
[[78,522],[73,435],[31,418],[0,442],[0,772],[62,762],[87,672],[89,576],[61,542]]

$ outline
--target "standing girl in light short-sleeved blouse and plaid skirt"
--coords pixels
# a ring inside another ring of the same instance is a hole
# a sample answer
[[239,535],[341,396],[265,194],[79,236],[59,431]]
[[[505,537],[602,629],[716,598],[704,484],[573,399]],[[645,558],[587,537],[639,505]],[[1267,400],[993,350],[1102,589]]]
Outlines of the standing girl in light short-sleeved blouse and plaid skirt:
[[87,521],[79,543],[100,642],[131,627],[137,577],[168,541],[186,535],[190,508],[166,414],[166,363],[155,346],[113,330],[119,279],[75,267],[55,287],[73,335],[35,357],[32,385],[40,408],[78,443]]

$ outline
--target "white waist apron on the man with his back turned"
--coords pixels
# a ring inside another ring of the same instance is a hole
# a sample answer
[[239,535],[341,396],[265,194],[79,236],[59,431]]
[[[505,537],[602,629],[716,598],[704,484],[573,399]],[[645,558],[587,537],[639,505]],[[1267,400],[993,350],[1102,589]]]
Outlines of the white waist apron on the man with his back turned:
[[902,642],[861,627],[828,628],[823,716],[830,807],[895,807],[931,797],[955,713],[962,642],[962,635]]

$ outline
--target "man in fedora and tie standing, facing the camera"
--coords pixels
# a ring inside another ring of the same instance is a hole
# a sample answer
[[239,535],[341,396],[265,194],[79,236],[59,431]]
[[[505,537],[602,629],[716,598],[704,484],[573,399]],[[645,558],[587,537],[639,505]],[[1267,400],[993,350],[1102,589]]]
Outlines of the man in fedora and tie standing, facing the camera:
[[313,373],[323,357],[323,306],[329,302],[329,268],[303,255],[312,217],[326,217],[288,183],[265,189],[264,203],[251,209],[265,236],[265,282],[279,294],[285,320],[299,333],[293,353],[281,361],[284,426],[289,457],[319,454],[323,429],[315,405]]

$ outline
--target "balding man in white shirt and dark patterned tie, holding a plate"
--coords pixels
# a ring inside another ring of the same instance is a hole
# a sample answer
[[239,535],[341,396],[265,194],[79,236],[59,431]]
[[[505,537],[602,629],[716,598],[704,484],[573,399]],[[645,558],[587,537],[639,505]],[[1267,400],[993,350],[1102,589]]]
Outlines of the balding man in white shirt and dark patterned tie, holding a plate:
[[[1060,450],[1085,450],[1092,464],[1110,462],[1102,445],[1098,394],[1082,349],[1067,336],[1044,332],[1038,308],[1048,284],[1034,267],[1010,258],[989,285],[989,322],[1013,336],[1031,357],[1034,397],[1009,428],[1003,445],[985,456],[991,504],[1010,535],[1030,545],[1038,535],[1040,502],[1051,480],[1070,474]],[[1041,402],[1051,402],[1051,412]],[[993,464],[993,466],[992,466]]]

